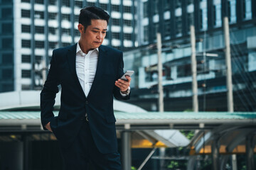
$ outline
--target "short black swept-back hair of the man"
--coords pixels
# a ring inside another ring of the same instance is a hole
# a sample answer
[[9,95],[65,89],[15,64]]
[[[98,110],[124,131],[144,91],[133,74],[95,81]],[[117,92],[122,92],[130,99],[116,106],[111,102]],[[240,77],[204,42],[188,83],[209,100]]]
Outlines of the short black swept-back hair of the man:
[[81,23],[82,26],[85,26],[85,30],[87,26],[91,25],[92,19],[105,20],[108,23],[110,15],[107,14],[107,12],[105,12],[102,8],[98,8],[96,6],[87,6],[80,10],[78,22]]

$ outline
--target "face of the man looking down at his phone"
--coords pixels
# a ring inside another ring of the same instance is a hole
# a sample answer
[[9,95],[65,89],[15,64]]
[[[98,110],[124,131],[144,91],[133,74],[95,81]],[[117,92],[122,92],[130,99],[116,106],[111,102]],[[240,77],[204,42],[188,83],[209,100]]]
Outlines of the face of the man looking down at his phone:
[[82,44],[87,49],[95,49],[102,45],[102,42],[106,36],[107,21],[105,20],[91,20],[91,25],[87,26],[86,30],[82,27],[81,38]]

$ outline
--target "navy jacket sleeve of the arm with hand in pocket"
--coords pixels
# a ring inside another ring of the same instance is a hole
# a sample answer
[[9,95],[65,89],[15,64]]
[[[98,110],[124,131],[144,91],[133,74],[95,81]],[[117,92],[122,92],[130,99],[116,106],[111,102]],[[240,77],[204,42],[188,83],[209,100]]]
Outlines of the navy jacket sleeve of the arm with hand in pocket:
[[50,60],[50,70],[43,90],[41,91],[41,123],[43,129],[46,130],[45,125],[53,120],[53,106],[55,103],[55,96],[58,93],[58,67],[56,64],[55,51],[53,51],[53,57]]

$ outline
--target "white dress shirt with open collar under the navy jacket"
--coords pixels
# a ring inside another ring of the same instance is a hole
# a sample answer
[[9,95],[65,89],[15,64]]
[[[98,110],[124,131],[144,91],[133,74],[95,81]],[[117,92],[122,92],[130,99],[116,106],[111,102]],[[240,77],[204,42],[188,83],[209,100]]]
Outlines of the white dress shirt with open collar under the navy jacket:
[[[78,43],[76,50],[76,60],[75,60],[75,69],[78,74],[78,79],[82,90],[85,93],[85,96],[88,96],[89,91],[92,86],[92,82],[95,78],[96,69],[97,69],[97,60],[99,57],[99,49],[95,48],[90,50],[87,54],[82,52],[80,45]],[[113,82],[114,83],[114,82]],[[122,94],[122,96],[127,96],[128,94]]]

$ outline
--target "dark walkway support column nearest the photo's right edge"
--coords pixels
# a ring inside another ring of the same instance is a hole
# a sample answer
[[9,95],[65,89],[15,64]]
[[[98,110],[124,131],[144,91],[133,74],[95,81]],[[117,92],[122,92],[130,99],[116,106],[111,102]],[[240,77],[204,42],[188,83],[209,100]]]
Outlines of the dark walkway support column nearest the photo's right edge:
[[246,159],[247,159],[247,170],[255,169],[254,162],[254,145],[253,145],[253,135],[249,135],[246,137]]

